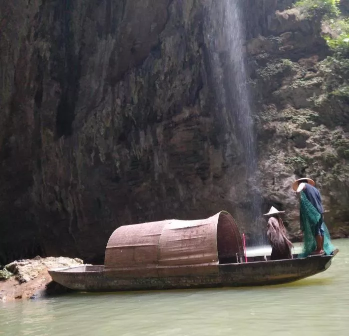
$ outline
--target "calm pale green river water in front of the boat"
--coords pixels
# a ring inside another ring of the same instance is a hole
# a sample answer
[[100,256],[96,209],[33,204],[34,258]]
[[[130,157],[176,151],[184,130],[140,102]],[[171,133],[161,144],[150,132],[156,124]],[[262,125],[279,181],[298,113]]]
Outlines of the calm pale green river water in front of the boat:
[[0,335],[349,335],[349,239],[286,285],[89,294],[0,303]]

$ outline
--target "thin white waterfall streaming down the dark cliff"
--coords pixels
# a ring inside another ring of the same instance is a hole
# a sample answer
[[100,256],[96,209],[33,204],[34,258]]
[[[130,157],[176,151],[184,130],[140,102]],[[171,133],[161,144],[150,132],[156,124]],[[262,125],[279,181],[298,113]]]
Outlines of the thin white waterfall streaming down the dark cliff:
[[[221,108],[226,108],[228,113],[233,114],[229,122],[234,125],[234,131],[241,141],[247,181],[253,182],[257,172],[257,146],[245,62],[246,37],[241,8],[243,2],[243,0],[212,1],[209,9],[211,26],[208,28],[210,31],[208,38],[218,100],[221,100]],[[219,56],[222,50],[226,53],[224,61]],[[222,68],[226,70],[222,71]],[[261,214],[261,198],[253,190],[250,194],[252,223],[245,224],[257,234],[254,244],[261,244],[265,242],[265,230],[257,227],[257,217]]]

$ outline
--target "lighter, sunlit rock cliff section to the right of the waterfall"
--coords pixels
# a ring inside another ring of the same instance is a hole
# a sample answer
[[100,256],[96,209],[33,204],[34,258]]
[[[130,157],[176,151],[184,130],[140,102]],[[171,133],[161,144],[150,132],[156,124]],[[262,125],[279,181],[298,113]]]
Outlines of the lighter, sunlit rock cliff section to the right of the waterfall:
[[[276,11],[269,36],[247,43],[259,132],[259,187],[288,211],[295,232],[292,180],[312,176],[333,236],[348,236],[349,60],[332,57],[320,17]],[[291,211],[290,211],[291,210]]]

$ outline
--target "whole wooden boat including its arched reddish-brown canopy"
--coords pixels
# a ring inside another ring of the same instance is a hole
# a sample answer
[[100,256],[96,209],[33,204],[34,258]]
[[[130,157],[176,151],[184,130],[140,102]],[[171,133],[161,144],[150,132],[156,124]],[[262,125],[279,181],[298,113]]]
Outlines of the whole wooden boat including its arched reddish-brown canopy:
[[296,281],[326,270],[332,255],[285,260],[249,257],[234,218],[221,211],[200,220],[125,225],[109,238],[104,265],[50,269],[80,291],[253,286]]

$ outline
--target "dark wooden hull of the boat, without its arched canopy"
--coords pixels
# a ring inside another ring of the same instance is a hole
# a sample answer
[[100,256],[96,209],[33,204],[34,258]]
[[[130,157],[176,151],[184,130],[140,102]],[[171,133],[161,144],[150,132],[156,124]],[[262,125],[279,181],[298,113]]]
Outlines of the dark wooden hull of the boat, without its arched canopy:
[[221,264],[217,273],[192,276],[112,276],[104,272],[103,265],[56,268],[48,272],[65,287],[91,292],[258,286],[292,282],[320,273],[331,265],[332,258],[333,255]]

